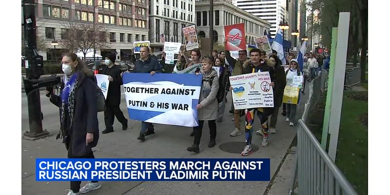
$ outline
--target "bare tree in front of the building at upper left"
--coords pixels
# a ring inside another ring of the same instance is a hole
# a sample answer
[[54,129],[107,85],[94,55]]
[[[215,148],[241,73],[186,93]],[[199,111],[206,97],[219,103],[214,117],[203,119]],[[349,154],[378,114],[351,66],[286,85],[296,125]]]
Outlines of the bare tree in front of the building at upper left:
[[63,25],[66,30],[66,39],[61,40],[63,47],[69,52],[84,54],[84,58],[92,49],[103,50],[110,46],[108,39],[108,28],[104,25],[68,21]]

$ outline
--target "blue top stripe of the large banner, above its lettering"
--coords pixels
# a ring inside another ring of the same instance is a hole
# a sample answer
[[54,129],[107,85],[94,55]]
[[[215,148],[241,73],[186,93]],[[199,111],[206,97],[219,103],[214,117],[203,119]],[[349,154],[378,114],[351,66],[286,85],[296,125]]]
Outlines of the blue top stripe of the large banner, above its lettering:
[[200,86],[202,82],[202,75],[195,74],[171,74],[167,77],[167,74],[158,74],[151,76],[149,73],[124,73],[123,84],[129,82],[156,82],[156,81],[171,81],[177,84],[184,84],[186,86]]

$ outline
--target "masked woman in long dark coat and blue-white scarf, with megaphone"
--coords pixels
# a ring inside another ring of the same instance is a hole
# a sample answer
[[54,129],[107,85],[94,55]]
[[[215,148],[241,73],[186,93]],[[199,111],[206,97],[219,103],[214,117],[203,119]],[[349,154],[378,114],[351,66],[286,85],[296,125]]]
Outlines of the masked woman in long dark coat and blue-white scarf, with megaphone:
[[[50,101],[60,110],[60,131],[57,138],[62,138],[68,150],[68,158],[95,158],[92,148],[98,144],[99,127],[96,108],[95,78],[84,62],[74,53],[63,56],[61,94],[50,95]],[[71,181],[68,195],[78,195],[97,190],[98,181],[88,182],[80,189],[81,181]]]

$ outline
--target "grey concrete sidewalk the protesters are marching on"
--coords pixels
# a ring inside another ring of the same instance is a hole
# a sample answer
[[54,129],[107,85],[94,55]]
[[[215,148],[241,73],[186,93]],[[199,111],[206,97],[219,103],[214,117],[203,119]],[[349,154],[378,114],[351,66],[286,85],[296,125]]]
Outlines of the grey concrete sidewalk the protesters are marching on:
[[[301,102],[305,102],[308,95],[302,96]],[[228,96],[230,98],[230,95]],[[229,106],[228,106],[229,105]],[[188,152],[186,148],[193,142],[193,137],[189,134],[192,128],[178,127],[171,125],[155,125],[156,134],[146,137],[145,142],[137,140],[139,135],[139,121],[129,120],[129,128],[121,130],[120,124],[115,121],[114,132],[100,135],[99,143],[95,147],[96,158],[271,158],[271,178],[275,174],[274,181],[270,182],[101,182],[101,189],[88,193],[89,195],[263,195],[280,193],[287,194],[291,185],[288,182],[292,179],[295,162],[294,156],[287,157],[281,164],[286,153],[289,151],[296,130],[288,126],[285,117],[279,114],[277,123],[277,134],[270,135],[270,145],[261,147],[259,136],[253,136],[253,144],[260,146],[259,150],[249,156],[227,153],[219,146],[226,142],[242,142],[245,145],[244,133],[238,137],[230,137],[234,129],[232,114],[229,114],[231,100],[228,101],[221,123],[217,123],[216,146],[207,148],[209,141],[208,125],[204,125],[202,139],[200,143],[200,153]],[[298,107],[297,114],[301,115],[304,103]],[[126,105],[122,102],[121,110],[128,116]],[[280,109],[282,110],[282,109]],[[98,114],[99,129],[104,130],[103,113]],[[69,189],[69,182],[37,182],[35,181],[35,159],[36,158],[66,158],[67,151],[61,140],[56,140],[59,124],[58,120],[52,122],[50,127],[44,127],[52,136],[35,141],[22,139],[22,194],[26,195],[65,195],[65,189]],[[245,131],[245,122],[241,123],[242,132]],[[258,130],[260,124],[256,117],[254,122],[254,132]],[[276,171],[280,169],[279,173]],[[283,181],[283,182],[282,182]],[[82,182],[81,185],[84,185]],[[267,189],[267,187],[271,187]],[[274,191],[274,188],[275,190]],[[276,189],[277,188],[277,189]],[[266,192],[266,193],[265,193]]]

